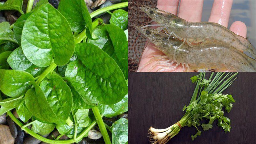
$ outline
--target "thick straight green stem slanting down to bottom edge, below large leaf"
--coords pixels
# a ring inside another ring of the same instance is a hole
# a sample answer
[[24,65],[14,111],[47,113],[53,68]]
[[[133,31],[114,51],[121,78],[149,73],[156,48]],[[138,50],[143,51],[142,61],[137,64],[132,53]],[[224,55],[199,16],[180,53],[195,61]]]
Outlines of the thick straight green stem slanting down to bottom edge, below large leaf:
[[110,138],[109,138],[109,135],[108,135],[108,132],[107,132],[107,129],[105,127],[105,124],[102,120],[102,117],[100,115],[100,111],[99,111],[99,108],[98,107],[93,107],[92,108],[92,112],[96,118],[96,122],[100,128],[100,132],[102,134],[102,137],[105,141],[106,144],[111,144],[111,141],[110,141]]

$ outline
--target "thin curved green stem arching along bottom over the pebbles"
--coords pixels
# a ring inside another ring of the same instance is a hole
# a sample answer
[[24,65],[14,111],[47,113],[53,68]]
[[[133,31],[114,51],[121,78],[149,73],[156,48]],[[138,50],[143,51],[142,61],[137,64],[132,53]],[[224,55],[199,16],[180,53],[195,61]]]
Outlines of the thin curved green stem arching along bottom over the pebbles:
[[[23,126],[23,124],[11,113],[11,111],[8,111],[7,114],[11,117],[11,119],[20,127]],[[81,132],[78,137],[76,137],[77,140],[80,140],[84,137],[86,133],[88,133],[95,125],[97,124],[96,120],[92,121],[92,123],[83,131]],[[46,143],[50,144],[69,144],[69,143],[74,143],[76,140],[70,139],[70,140],[50,140],[47,138],[44,138],[40,136],[39,134],[33,132],[32,130],[28,129],[27,127],[24,128],[24,131],[33,136],[34,138],[41,140]]]

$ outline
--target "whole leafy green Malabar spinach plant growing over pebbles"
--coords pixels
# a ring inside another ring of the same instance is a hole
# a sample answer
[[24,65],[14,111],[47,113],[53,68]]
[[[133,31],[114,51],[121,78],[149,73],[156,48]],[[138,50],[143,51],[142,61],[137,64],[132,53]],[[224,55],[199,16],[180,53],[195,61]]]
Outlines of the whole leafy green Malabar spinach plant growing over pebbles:
[[[23,0],[0,3],[21,13],[11,26],[0,23],[0,115],[46,143],[79,142],[96,124],[105,143],[111,135],[112,143],[127,143],[128,120],[108,126],[102,117],[128,111],[128,12],[120,9],[128,2],[92,13],[84,0],[60,0],[58,9],[48,0],[33,3],[26,13]],[[106,12],[110,24],[94,18]],[[43,137],[54,129],[57,138]],[[59,140],[63,135],[69,139]]]

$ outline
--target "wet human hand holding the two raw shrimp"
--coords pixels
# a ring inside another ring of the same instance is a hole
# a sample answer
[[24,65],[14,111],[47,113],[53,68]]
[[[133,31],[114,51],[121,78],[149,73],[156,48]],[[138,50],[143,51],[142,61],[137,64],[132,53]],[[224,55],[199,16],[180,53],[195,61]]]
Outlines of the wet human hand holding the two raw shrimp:
[[[209,18],[210,22],[219,23],[225,27],[228,27],[229,15],[232,7],[232,0],[215,0],[212,5],[212,11]],[[171,12],[172,14],[177,15],[179,6],[179,0],[158,0],[157,8],[160,10],[164,10],[167,12]],[[181,0],[180,8],[179,8],[179,17],[185,19],[189,22],[200,22],[202,17],[203,10],[203,0]],[[235,21],[231,26],[230,30],[235,34],[246,37],[246,26],[241,21]],[[154,48],[153,44],[146,44],[144,52],[142,53],[140,59],[139,69],[140,72],[148,72],[149,68],[153,65],[150,63],[143,68],[141,68],[144,64],[146,64],[154,55],[163,54],[163,52]],[[176,64],[173,64],[175,66]],[[151,71],[156,72],[159,68],[170,67],[164,65],[157,65]],[[186,71],[186,69],[185,69]],[[216,70],[219,71],[219,70]],[[178,66],[176,69],[166,69],[164,72],[182,72],[182,66]]]

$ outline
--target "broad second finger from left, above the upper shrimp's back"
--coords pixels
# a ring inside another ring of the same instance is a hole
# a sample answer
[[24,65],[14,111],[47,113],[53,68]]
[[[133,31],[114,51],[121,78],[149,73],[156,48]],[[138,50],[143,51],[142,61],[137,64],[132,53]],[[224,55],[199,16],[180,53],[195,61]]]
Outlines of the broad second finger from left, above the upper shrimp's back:
[[179,17],[189,22],[200,22],[203,11],[203,0],[181,0]]

